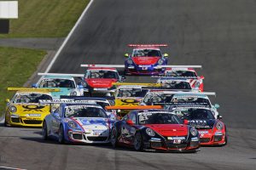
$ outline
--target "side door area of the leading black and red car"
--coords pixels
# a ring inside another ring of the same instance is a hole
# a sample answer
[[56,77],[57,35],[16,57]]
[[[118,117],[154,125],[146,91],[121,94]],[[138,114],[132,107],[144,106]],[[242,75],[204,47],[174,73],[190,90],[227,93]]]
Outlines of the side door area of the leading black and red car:
[[[128,124],[126,122],[127,120],[131,120],[133,124]],[[133,137],[136,132],[136,129],[134,127],[136,123],[137,123],[136,112],[131,112],[129,115],[127,115],[127,119],[125,120],[125,122],[123,122],[122,129],[121,129],[122,139],[125,144],[132,144]]]

